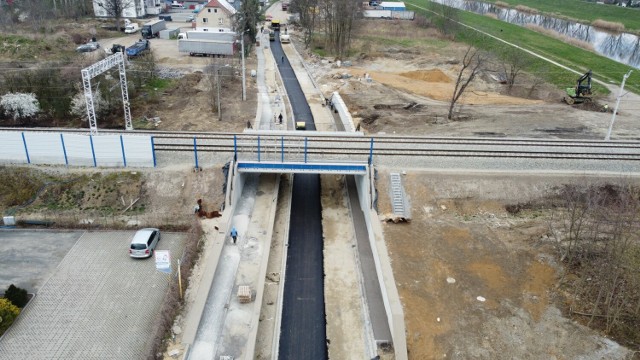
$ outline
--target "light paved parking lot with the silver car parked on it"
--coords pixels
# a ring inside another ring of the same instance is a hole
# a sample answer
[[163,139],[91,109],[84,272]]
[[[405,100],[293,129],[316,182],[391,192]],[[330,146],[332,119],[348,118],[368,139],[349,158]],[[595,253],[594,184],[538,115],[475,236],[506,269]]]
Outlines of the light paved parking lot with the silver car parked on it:
[[[132,259],[133,231],[85,232],[0,339],[6,359],[142,359],[172,275]],[[184,236],[163,233],[172,269]]]

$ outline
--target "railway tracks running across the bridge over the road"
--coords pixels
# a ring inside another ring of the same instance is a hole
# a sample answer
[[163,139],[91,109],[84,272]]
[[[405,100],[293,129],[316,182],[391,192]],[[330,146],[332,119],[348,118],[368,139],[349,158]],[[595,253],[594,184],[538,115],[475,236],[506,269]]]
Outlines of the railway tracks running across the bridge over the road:
[[[87,129],[0,131],[87,134]],[[322,157],[477,157],[584,160],[640,160],[640,142],[520,138],[446,138],[397,135],[362,136],[319,132],[214,133],[101,130],[100,134],[152,136],[158,152],[257,154],[306,153]]]

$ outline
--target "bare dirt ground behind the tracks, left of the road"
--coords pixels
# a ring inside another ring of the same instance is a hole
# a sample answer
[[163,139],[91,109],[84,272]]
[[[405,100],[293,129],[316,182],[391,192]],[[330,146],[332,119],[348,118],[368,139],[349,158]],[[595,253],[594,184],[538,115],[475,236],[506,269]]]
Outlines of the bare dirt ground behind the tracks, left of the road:
[[[170,27],[171,25],[173,24],[170,24]],[[104,56],[102,49],[110,49],[116,43],[128,47],[133,45],[139,37],[140,34],[134,34],[101,39],[99,51],[81,55],[99,60]],[[178,52],[177,40],[151,39],[150,42],[159,72],[174,73],[178,76],[175,77],[176,84],[168,89],[158,94],[154,89],[143,89],[142,93],[145,95],[142,101],[133,99],[131,115],[134,128],[240,132],[247,126],[247,121],[253,123],[257,107],[256,81],[250,74],[251,70],[257,67],[255,56],[249,55],[245,59],[247,100],[242,101],[242,65],[239,57],[189,56]],[[136,59],[130,61],[135,62]],[[220,102],[222,103],[220,114],[215,106],[217,83],[206,70],[210,66],[227,69],[223,72],[220,81]],[[228,70],[229,68],[233,70]],[[152,100],[149,101],[148,98]],[[159,118],[160,121],[145,121],[151,118]],[[100,119],[98,119],[98,126],[100,126]]]

